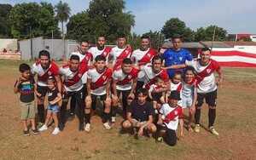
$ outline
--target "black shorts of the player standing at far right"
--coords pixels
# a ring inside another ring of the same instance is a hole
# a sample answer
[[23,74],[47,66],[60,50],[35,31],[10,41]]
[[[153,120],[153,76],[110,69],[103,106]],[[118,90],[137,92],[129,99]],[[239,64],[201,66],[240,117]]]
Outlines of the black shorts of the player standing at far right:
[[196,106],[201,107],[202,104],[204,103],[204,99],[206,99],[208,106],[216,106],[217,89],[207,94],[197,93]]

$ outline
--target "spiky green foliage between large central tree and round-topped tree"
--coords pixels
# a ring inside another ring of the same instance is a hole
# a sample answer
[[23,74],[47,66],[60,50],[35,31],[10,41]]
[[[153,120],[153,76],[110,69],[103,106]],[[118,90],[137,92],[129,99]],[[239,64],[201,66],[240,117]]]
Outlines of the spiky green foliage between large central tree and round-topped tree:
[[148,31],[143,36],[150,37],[151,47],[154,49],[159,49],[165,40],[164,35],[160,31]]

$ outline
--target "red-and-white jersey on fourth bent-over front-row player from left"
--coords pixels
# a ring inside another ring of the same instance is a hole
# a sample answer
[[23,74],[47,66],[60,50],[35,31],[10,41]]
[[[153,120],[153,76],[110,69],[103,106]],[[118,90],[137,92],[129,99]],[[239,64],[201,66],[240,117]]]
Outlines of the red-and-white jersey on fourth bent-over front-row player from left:
[[118,90],[129,90],[131,89],[132,80],[137,77],[138,70],[132,68],[129,74],[125,74],[122,69],[113,71],[113,79],[118,81],[116,89]]

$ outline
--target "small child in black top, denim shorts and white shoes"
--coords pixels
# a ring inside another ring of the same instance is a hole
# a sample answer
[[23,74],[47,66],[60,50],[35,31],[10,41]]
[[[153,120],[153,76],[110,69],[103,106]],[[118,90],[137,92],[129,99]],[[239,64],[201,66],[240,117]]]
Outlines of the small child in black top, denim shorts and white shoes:
[[47,116],[45,119],[44,125],[39,129],[40,132],[48,129],[47,125],[49,123],[49,119],[52,117],[54,122],[55,122],[55,129],[52,132],[52,134],[56,135],[60,133],[59,129],[59,121],[57,118],[57,113],[59,112],[59,102],[61,101],[61,93],[58,91],[58,89],[55,87],[56,82],[54,77],[48,77],[47,80],[47,85],[48,85],[48,102],[49,106],[47,109]]

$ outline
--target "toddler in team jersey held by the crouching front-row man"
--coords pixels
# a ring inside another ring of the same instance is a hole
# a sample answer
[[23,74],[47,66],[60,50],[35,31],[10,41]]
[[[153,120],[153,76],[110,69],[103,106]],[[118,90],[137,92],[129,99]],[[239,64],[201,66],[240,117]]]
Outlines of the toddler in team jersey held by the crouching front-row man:
[[166,92],[162,90],[165,88],[166,85],[164,80],[160,77],[156,77],[156,83],[152,84],[148,90],[148,96],[151,100],[153,100],[154,112],[156,114],[158,113],[161,104],[164,104],[166,101]]

